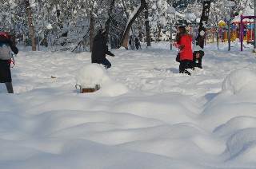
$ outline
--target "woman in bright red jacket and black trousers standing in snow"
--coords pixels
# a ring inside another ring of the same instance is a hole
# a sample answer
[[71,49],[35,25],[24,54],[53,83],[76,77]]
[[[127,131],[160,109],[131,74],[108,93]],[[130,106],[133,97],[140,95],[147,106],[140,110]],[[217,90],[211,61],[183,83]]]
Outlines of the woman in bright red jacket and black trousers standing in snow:
[[193,61],[193,51],[192,51],[192,37],[190,34],[186,33],[185,26],[178,27],[179,33],[177,36],[177,43],[174,43],[174,46],[178,47],[180,54],[180,64],[179,64],[179,73],[187,73],[191,75],[186,69],[190,64],[190,61]]

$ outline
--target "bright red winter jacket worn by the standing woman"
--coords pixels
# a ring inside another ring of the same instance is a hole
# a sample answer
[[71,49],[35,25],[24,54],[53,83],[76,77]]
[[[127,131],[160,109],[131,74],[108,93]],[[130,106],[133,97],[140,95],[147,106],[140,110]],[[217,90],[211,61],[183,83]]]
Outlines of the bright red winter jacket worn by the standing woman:
[[177,47],[184,46],[182,49],[180,49],[180,61],[182,60],[190,60],[193,61],[193,52],[192,52],[192,37],[189,34],[184,34],[179,40],[179,43],[177,43]]

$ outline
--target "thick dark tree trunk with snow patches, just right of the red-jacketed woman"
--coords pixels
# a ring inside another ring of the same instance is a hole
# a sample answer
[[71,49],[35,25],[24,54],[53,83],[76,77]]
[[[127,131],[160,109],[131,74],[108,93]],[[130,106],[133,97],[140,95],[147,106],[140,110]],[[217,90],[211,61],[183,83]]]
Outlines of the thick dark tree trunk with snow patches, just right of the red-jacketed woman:
[[204,1],[202,7],[202,16],[199,23],[198,37],[196,38],[196,45],[199,45],[202,49],[204,46],[204,37],[206,34],[206,24],[209,19],[210,1]]

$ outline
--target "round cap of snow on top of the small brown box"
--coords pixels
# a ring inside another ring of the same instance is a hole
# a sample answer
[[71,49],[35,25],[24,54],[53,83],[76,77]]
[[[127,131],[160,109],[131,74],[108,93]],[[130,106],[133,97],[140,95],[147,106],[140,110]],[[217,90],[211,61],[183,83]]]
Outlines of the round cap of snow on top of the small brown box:
[[90,64],[78,70],[76,84],[84,88],[94,88],[95,85],[102,85],[104,77],[106,77],[106,69],[102,65]]

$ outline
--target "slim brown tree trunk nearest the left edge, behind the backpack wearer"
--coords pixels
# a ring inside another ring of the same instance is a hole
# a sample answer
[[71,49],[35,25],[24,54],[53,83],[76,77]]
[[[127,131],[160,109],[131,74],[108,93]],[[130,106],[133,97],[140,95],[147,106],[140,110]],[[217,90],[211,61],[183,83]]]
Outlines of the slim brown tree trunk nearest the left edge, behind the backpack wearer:
[[31,38],[31,44],[32,44],[32,51],[36,51],[36,42],[35,42],[35,36],[34,36],[34,26],[32,23],[32,10],[30,7],[30,1],[26,0],[26,14],[27,14],[27,22],[30,29],[30,38]]

